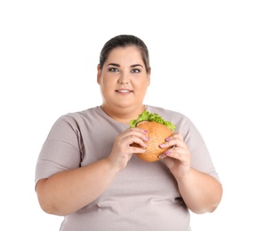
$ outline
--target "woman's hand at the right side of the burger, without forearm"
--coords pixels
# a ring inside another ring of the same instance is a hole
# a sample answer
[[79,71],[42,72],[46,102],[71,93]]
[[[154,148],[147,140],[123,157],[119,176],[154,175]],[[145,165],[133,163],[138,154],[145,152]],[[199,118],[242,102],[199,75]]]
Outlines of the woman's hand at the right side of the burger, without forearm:
[[170,149],[160,155],[160,158],[164,159],[164,163],[176,179],[185,177],[190,170],[190,152],[186,143],[180,133],[175,133],[165,140],[160,147],[170,147]]

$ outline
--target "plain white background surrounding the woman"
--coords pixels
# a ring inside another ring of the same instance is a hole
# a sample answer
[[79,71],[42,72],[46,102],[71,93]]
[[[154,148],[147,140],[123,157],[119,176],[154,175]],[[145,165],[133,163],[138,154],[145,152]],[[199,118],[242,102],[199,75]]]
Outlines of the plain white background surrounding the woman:
[[148,44],[145,103],[201,131],[223,183],[193,231],[255,229],[255,1],[1,1],[1,230],[59,230],[36,200],[36,159],[52,123],[100,105],[96,67],[112,36]]

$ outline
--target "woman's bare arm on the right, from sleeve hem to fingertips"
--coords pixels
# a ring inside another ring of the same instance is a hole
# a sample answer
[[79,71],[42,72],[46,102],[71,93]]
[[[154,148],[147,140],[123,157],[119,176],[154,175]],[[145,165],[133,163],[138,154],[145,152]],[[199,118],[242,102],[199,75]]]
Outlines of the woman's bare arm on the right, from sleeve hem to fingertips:
[[214,211],[222,197],[220,182],[190,166],[190,151],[180,133],[166,139],[162,147],[171,147],[160,157],[177,180],[180,195],[188,209],[195,213]]

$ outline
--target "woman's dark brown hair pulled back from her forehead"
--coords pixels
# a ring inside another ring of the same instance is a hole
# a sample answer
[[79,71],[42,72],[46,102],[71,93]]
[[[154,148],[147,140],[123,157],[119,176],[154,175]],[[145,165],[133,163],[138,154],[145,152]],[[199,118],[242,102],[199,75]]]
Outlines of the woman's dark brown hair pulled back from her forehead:
[[140,50],[146,70],[147,72],[150,72],[148,47],[139,37],[130,35],[112,37],[106,44],[104,44],[100,52],[100,69],[103,67],[105,61],[107,60],[109,52],[111,52],[116,47],[126,47],[132,45],[136,46]]

